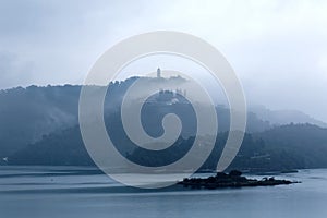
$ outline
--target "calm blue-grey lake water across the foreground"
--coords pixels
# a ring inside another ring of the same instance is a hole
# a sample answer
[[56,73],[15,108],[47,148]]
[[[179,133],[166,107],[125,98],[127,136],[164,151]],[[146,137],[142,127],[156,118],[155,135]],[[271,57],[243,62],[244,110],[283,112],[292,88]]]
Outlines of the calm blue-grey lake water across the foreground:
[[276,178],[302,183],[144,192],[90,168],[0,167],[0,217],[327,217],[327,169]]

